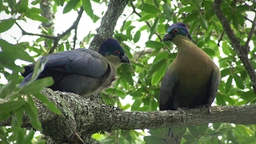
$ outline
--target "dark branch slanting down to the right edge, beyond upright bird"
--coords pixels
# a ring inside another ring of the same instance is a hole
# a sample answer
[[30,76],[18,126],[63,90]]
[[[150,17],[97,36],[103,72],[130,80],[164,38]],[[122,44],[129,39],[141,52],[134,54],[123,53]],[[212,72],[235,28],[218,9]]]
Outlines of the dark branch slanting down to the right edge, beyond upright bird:
[[248,58],[248,50],[246,50],[245,46],[241,46],[238,38],[235,37],[234,32],[230,27],[230,23],[227,22],[225,16],[222,14],[222,10],[220,8],[221,3],[222,0],[214,0],[214,13],[217,15],[219,21],[222,23],[222,26],[226,31],[226,35],[228,36],[228,38],[230,38],[230,42],[234,47],[234,50],[238,54],[238,57],[241,59],[243,66],[245,66],[245,69],[250,77],[250,81],[254,88],[254,94],[256,94],[256,72]]

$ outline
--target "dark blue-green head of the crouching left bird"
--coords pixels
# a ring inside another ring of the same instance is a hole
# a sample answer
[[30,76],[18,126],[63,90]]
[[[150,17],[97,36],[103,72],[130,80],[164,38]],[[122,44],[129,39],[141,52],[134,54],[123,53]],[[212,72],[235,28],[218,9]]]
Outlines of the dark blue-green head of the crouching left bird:
[[98,49],[98,53],[102,54],[108,62],[118,66],[121,62],[130,63],[130,59],[126,56],[125,51],[118,40],[107,38]]

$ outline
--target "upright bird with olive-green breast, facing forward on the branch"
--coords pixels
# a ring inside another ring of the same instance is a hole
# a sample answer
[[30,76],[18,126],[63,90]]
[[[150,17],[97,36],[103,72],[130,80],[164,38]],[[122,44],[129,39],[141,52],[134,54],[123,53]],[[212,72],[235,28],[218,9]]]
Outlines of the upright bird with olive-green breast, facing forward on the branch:
[[163,41],[173,42],[178,53],[162,79],[160,110],[205,106],[210,112],[221,78],[218,66],[192,42],[184,23],[171,25]]

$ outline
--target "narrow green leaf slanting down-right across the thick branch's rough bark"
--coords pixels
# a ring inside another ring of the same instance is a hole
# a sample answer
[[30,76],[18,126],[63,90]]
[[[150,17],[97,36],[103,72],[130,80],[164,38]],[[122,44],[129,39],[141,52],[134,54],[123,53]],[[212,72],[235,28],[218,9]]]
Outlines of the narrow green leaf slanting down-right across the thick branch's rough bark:
[[56,114],[62,114],[60,110],[57,109],[57,107],[54,105],[54,102],[50,102],[45,95],[41,93],[33,94],[35,98],[38,98],[42,103],[44,103],[49,110]]

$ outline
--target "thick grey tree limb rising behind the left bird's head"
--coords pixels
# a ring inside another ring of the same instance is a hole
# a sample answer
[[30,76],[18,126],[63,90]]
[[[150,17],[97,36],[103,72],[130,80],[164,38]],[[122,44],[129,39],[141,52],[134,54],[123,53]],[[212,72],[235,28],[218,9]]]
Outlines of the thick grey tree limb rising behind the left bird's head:
[[102,17],[101,26],[97,29],[94,39],[90,42],[90,49],[98,51],[98,47],[106,38],[112,37],[114,27],[129,0],[110,0],[106,14]]

